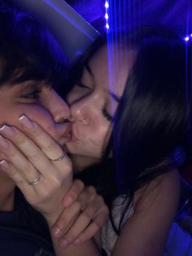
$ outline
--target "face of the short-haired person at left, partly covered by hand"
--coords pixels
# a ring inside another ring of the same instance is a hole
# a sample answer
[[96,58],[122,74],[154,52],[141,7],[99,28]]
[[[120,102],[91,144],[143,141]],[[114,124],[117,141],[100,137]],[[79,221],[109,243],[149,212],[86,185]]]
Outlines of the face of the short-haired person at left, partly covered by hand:
[[67,104],[44,82],[27,81],[0,87],[0,126],[20,128],[18,118],[25,114],[36,121],[61,145],[71,139],[71,125],[59,123],[68,118]]

